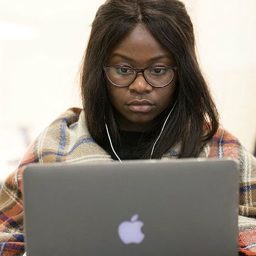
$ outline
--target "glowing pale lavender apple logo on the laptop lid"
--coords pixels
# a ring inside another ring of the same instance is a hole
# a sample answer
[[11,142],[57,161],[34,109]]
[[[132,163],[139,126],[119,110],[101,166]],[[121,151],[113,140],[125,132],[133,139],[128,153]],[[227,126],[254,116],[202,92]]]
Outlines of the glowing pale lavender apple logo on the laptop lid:
[[142,233],[141,229],[144,223],[138,220],[139,215],[135,214],[131,217],[130,221],[123,221],[118,226],[118,235],[122,242],[127,244],[140,244],[145,235]]

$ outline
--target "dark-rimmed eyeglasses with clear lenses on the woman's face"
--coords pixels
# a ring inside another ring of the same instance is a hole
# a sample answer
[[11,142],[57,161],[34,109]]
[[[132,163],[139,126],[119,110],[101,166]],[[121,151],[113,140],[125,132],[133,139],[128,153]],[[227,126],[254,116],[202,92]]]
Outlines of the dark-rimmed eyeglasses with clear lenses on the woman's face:
[[136,79],[138,73],[142,73],[144,79],[153,87],[165,87],[174,78],[174,70],[177,67],[151,66],[144,69],[135,69],[123,65],[104,66],[106,77],[114,86],[130,86]]

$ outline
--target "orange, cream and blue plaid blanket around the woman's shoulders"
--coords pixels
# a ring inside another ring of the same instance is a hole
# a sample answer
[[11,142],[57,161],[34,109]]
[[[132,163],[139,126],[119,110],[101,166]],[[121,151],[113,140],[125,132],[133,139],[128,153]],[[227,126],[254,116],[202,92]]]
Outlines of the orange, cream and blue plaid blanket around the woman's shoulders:
[[[179,146],[170,148],[163,159],[176,159]],[[240,167],[240,216],[238,248],[256,255],[256,159],[233,135],[221,128],[204,146],[200,157],[234,157]],[[24,252],[22,172],[29,163],[99,163],[111,157],[91,138],[83,111],[67,110],[48,126],[33,144],[14,173],[8,176],[0,194],[0,255]]]

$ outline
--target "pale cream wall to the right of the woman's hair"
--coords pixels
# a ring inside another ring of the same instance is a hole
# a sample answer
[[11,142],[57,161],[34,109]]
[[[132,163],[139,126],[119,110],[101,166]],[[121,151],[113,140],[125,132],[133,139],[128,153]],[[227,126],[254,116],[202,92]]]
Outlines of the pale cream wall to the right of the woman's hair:
[[195,0],[193,6],[199,58],[221,121],[253,152],[256,139],[256,1]]

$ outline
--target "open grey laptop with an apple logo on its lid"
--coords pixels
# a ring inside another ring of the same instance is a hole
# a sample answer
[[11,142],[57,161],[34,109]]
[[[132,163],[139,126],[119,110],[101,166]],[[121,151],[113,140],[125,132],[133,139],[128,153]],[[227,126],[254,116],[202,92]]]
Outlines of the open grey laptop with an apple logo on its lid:
[[33,164],[23,173],[31,255],[237,255],[232,159]]

